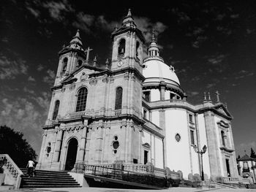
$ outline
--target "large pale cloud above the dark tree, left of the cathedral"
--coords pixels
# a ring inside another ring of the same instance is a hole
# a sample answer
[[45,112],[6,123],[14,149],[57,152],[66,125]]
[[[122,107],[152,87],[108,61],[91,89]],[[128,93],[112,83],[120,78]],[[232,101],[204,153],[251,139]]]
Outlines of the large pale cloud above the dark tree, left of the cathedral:
[[48,107],[38,108],[32,101],[22,97],[4,98],[1,99],[0,104],[1,125],[23,132],[25,139],[38,154],[42,139],[40,127],[45,123]]

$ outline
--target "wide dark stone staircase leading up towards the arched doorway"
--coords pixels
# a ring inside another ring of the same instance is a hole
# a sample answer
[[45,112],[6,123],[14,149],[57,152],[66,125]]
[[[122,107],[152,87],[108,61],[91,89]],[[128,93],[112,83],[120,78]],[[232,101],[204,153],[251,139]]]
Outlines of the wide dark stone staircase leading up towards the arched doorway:
[[23,172],[20,188],[78,188],[81,187],[67,172],[37,170],[34,177],[28,177],[27,169]]

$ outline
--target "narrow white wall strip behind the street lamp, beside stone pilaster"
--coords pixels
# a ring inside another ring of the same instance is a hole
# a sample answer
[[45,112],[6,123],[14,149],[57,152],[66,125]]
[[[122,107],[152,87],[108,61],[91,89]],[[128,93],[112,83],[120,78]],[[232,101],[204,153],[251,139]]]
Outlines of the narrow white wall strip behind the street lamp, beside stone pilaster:
[[[197,129],[200,138],[200,148],[202,149],[204,145],[206,145],[206,147],[208,146],[206,137],[206,123],[203,114],[197,115],[197,120]],[[211,176],[208,150],[206,150],[206,153],[203,154],[203,172],[207,174],[208,177]]]

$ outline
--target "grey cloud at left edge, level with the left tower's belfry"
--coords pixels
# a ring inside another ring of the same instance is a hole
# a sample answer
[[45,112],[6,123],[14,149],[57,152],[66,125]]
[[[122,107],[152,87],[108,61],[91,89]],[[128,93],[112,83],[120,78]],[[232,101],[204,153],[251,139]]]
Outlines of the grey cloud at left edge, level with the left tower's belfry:
[[18,74],[27,74],[29,66],[22,58],[11,60],[4,55],[0,55],[0,79],[12,80]]

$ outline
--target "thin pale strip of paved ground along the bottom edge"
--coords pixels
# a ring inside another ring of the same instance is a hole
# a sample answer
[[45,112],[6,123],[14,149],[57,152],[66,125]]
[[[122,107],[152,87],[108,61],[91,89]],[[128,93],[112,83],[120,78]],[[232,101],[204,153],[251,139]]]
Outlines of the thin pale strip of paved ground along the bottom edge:
[[136,189],[116,189],[116,188],[37,188],[37,189],[19,189],[19,190],[8,190],[7,188],[1,188],[0,191],[12,191],[12,192],[200,192],[200,191],[223,191],[223,192],[250,192],[256,189],[245,189],[245,188],[169,188],[165,190],[136,190]]

